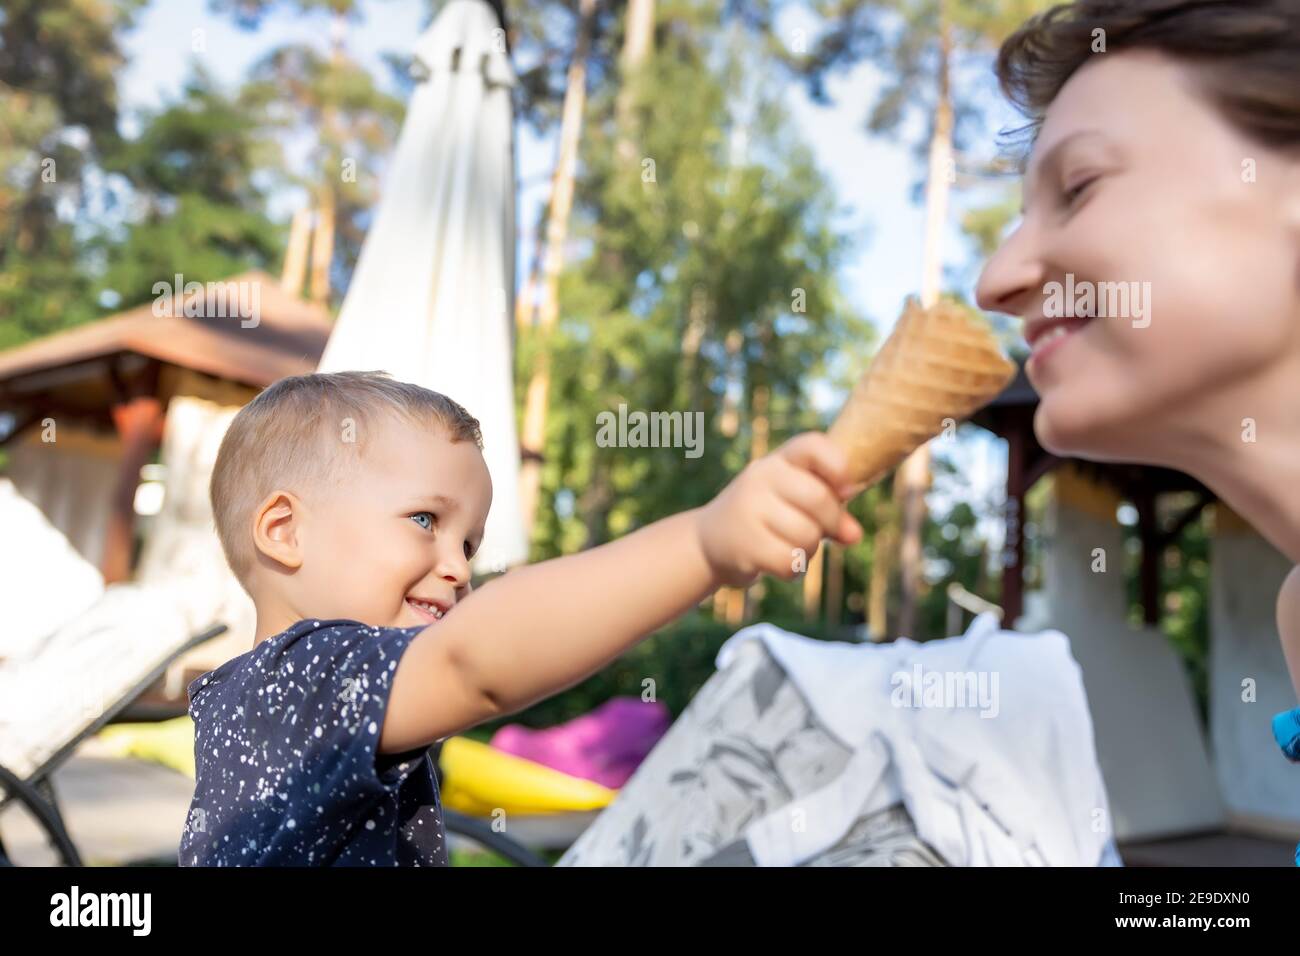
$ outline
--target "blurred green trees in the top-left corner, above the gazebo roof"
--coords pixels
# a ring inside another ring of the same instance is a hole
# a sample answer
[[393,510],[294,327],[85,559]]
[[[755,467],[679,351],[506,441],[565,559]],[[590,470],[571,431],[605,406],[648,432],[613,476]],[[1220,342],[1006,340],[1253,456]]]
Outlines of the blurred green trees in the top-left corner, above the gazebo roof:
[[118,134],[116,38],[136,7],[18,4],[0,22],[0,347],[147,302],[177,273],[217,280],[280,258],[265,101],[196,66]]

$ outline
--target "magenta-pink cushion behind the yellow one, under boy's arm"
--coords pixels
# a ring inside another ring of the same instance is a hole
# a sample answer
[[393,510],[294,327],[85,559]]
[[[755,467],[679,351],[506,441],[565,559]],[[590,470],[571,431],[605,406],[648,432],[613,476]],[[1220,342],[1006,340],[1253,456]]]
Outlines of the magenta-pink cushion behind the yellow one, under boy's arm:
[[668,708],[659,701],[614,697],[588,714],[546,730],[508,723],[493,735],[491,745],[618,790],[671,723]]

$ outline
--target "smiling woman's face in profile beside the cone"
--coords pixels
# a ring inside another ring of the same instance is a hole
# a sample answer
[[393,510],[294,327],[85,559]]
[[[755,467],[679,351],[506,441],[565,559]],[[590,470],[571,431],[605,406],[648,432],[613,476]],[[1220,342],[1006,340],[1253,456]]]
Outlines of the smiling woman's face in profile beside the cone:
[[1300,358],[1300,168],[1188,69],[1126,51],[1075,72],[980,276],[982,308],[1026,320],[1035,431],[1058,454],[1176,460],[1197,429],[1239,434],[1251,385]]

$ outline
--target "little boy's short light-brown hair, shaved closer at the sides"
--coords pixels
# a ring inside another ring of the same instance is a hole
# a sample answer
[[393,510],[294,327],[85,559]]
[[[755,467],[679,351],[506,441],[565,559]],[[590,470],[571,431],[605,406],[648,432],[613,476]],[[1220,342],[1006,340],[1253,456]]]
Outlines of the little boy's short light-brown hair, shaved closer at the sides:
[[[337,471],[343,445],[364,449],[378,415],[441,428],[452,442],[482,449],[478,419],[446,395],[394,381],[385,372],[316,372],[281,378],[239,410],[212,467],[212,515],[230,570],[242,583],[252,568],[248,523],[277,488]],[[338,431],[335,431],[338,429]],[[339,436],[343,440],[339,440]]]

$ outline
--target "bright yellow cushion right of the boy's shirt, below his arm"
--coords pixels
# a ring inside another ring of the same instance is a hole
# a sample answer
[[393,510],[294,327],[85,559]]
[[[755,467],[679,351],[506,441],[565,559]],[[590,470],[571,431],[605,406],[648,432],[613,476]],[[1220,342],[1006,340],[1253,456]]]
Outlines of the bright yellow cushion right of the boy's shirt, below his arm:
[[608,806],[618,791],[497,750],[468,737],[442,744],[442,805],[476,817],[566,813]]

